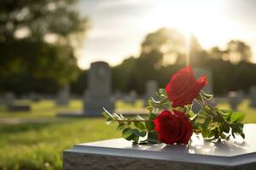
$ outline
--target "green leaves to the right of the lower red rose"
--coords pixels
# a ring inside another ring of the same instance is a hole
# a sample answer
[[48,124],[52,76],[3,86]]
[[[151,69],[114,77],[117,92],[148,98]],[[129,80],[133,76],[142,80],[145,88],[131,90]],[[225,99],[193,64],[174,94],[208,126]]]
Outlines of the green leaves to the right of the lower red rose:
[[229,139],[230,135],[240,135],[245,138],[242,131],[245,114],[238,111],[220,110],[207,104],[212,98],[211,94],[201,91],[200,98],[196,99],[201,105],[201,111],[195,114],[191,109],[186,113],[193,124],[195,133],[201,133],[204,139]]

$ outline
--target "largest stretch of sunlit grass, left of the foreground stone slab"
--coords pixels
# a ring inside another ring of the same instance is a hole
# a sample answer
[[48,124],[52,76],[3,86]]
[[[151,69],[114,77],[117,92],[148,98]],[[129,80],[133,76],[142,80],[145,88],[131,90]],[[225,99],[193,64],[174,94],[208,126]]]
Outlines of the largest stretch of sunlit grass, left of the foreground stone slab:
[[0,126],[0,169],[61,169],[61,155],[73,144],[119,137],[103,118],[49,124]]

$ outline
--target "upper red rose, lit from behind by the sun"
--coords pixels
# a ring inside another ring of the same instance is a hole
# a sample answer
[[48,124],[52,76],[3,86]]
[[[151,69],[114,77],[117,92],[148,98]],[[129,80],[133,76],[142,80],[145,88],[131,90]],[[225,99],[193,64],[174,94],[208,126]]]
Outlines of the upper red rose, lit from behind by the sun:
[[171,81],[166,85],[166,93],[173,107],[183,107],[191,105],[193,99],[206,85],[207,77],[201,76],[196,80],[192,68],[187,66],[173,75]]

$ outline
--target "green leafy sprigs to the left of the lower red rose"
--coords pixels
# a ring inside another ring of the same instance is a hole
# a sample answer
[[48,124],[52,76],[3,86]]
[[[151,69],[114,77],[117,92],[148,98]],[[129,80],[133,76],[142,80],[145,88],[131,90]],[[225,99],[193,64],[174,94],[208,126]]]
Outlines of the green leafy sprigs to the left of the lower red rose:
[[[149,111],[148,117],[143,116],[125,117],[122,114],[110,113],[103,108],[102,115],[107,118],[106,122],[117,122],[117,130],[122,131],[122,137],[127,140],[132,140],[134,143],[158,143],[157,133],[154,131],[154,118],[159,112],[156,110],[162,110],[164,108],[170,108],[170,102],[166,97],[165,89],[160,89],[156,93],[157,99],[148,99],[147,109]],[[145,138],[139,140],[140,137]]]

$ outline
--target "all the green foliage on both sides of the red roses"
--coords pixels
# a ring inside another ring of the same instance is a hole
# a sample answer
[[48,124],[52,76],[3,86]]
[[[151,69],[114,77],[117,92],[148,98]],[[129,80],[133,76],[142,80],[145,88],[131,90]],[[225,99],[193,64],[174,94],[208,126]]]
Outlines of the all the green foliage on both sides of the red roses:
[[[170,109],[170,101],[166,97],[166,90],[160,89],[157,92],[159,100],[153,98],[148,99],[147,109],[148,117],[127,118],[121,114],[109,113],[104,109],[103,116],[107,118],[106,122],[117,122],[117,130],[122,130],[123,138],[132,140],[134,143],[158,143],[157,133],[154,131],[154,118],[163,110]],[[177,111],[183,111],[189,117],[195,133],[201,133],[204,139],[218,140],[229,139],[230,135],[236,138],[240,135],[243,139],[243,124],[245,114],[238,111],[220,110],[213,108],[208,104],[208,100],[212,99],[212,94],[203,91],[195,99],[200,105],[201,110],[198,113],[192,111],[193,105],[185,105],[185,107],[171,108]],[[147,137],[147,139],[140,139]]]

